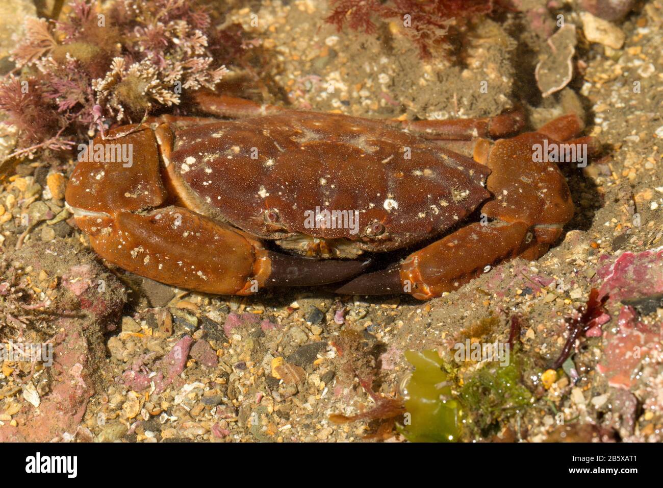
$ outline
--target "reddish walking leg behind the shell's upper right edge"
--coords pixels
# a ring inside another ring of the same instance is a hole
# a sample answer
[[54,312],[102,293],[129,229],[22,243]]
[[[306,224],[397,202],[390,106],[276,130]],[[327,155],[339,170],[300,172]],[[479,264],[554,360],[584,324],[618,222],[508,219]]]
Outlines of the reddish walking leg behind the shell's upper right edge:
[[426,139],[469,141],[475,137],[497,139],[514,134],[524,126],[524,114],[516,109],[495,117],[450,120],[392,120],[415,135]]

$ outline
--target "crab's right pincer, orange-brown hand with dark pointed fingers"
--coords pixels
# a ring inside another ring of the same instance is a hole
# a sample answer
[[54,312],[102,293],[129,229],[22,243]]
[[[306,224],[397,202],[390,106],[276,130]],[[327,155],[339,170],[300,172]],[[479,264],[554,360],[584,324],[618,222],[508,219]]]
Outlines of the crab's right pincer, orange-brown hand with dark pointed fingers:
[[400,266],[361,275],[336,290],[351,295],[410,293],[438,297],[522,251],[532,238],[524,222],[474,223],[414,252]]

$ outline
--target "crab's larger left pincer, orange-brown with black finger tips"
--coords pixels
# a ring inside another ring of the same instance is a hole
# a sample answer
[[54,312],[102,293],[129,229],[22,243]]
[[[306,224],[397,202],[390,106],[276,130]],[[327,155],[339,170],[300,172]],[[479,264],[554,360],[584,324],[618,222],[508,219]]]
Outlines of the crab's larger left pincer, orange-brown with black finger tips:
[[229,226],[176,206],[147,213],[120,210],[114,216],[83,212],[76,222],[108,261],[207,293],[250,295],[281,284],[328,284],[351,278],[366,265],[281,256]]

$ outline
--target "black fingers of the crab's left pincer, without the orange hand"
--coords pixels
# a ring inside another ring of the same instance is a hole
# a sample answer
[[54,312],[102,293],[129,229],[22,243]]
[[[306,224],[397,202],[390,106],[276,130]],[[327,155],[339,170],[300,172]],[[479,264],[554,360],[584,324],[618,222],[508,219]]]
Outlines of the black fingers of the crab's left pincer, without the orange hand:
[[336,261],[299,258],[269,252],[271,272],[265,287],[315,286],[342,282],[357,276],[371,264],[366,261]]

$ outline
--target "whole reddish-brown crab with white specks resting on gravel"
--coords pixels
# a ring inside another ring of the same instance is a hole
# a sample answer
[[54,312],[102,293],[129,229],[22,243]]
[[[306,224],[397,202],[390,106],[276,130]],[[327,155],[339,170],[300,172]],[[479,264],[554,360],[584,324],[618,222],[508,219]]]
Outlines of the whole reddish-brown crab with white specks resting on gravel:
[[[571,193],[536,145],[596,148],[574,114],[519,133],[518,110],[369,120],[211,92],[195,100],[211,117],[160,116],[97,137],[66,201],[108,262],[205,293],[344,282],[335,291],[440,296],[560,238]],[[112,157],[127,147],[132,161]],[[408,254],[371,270],[370,256],[398,251]]]

